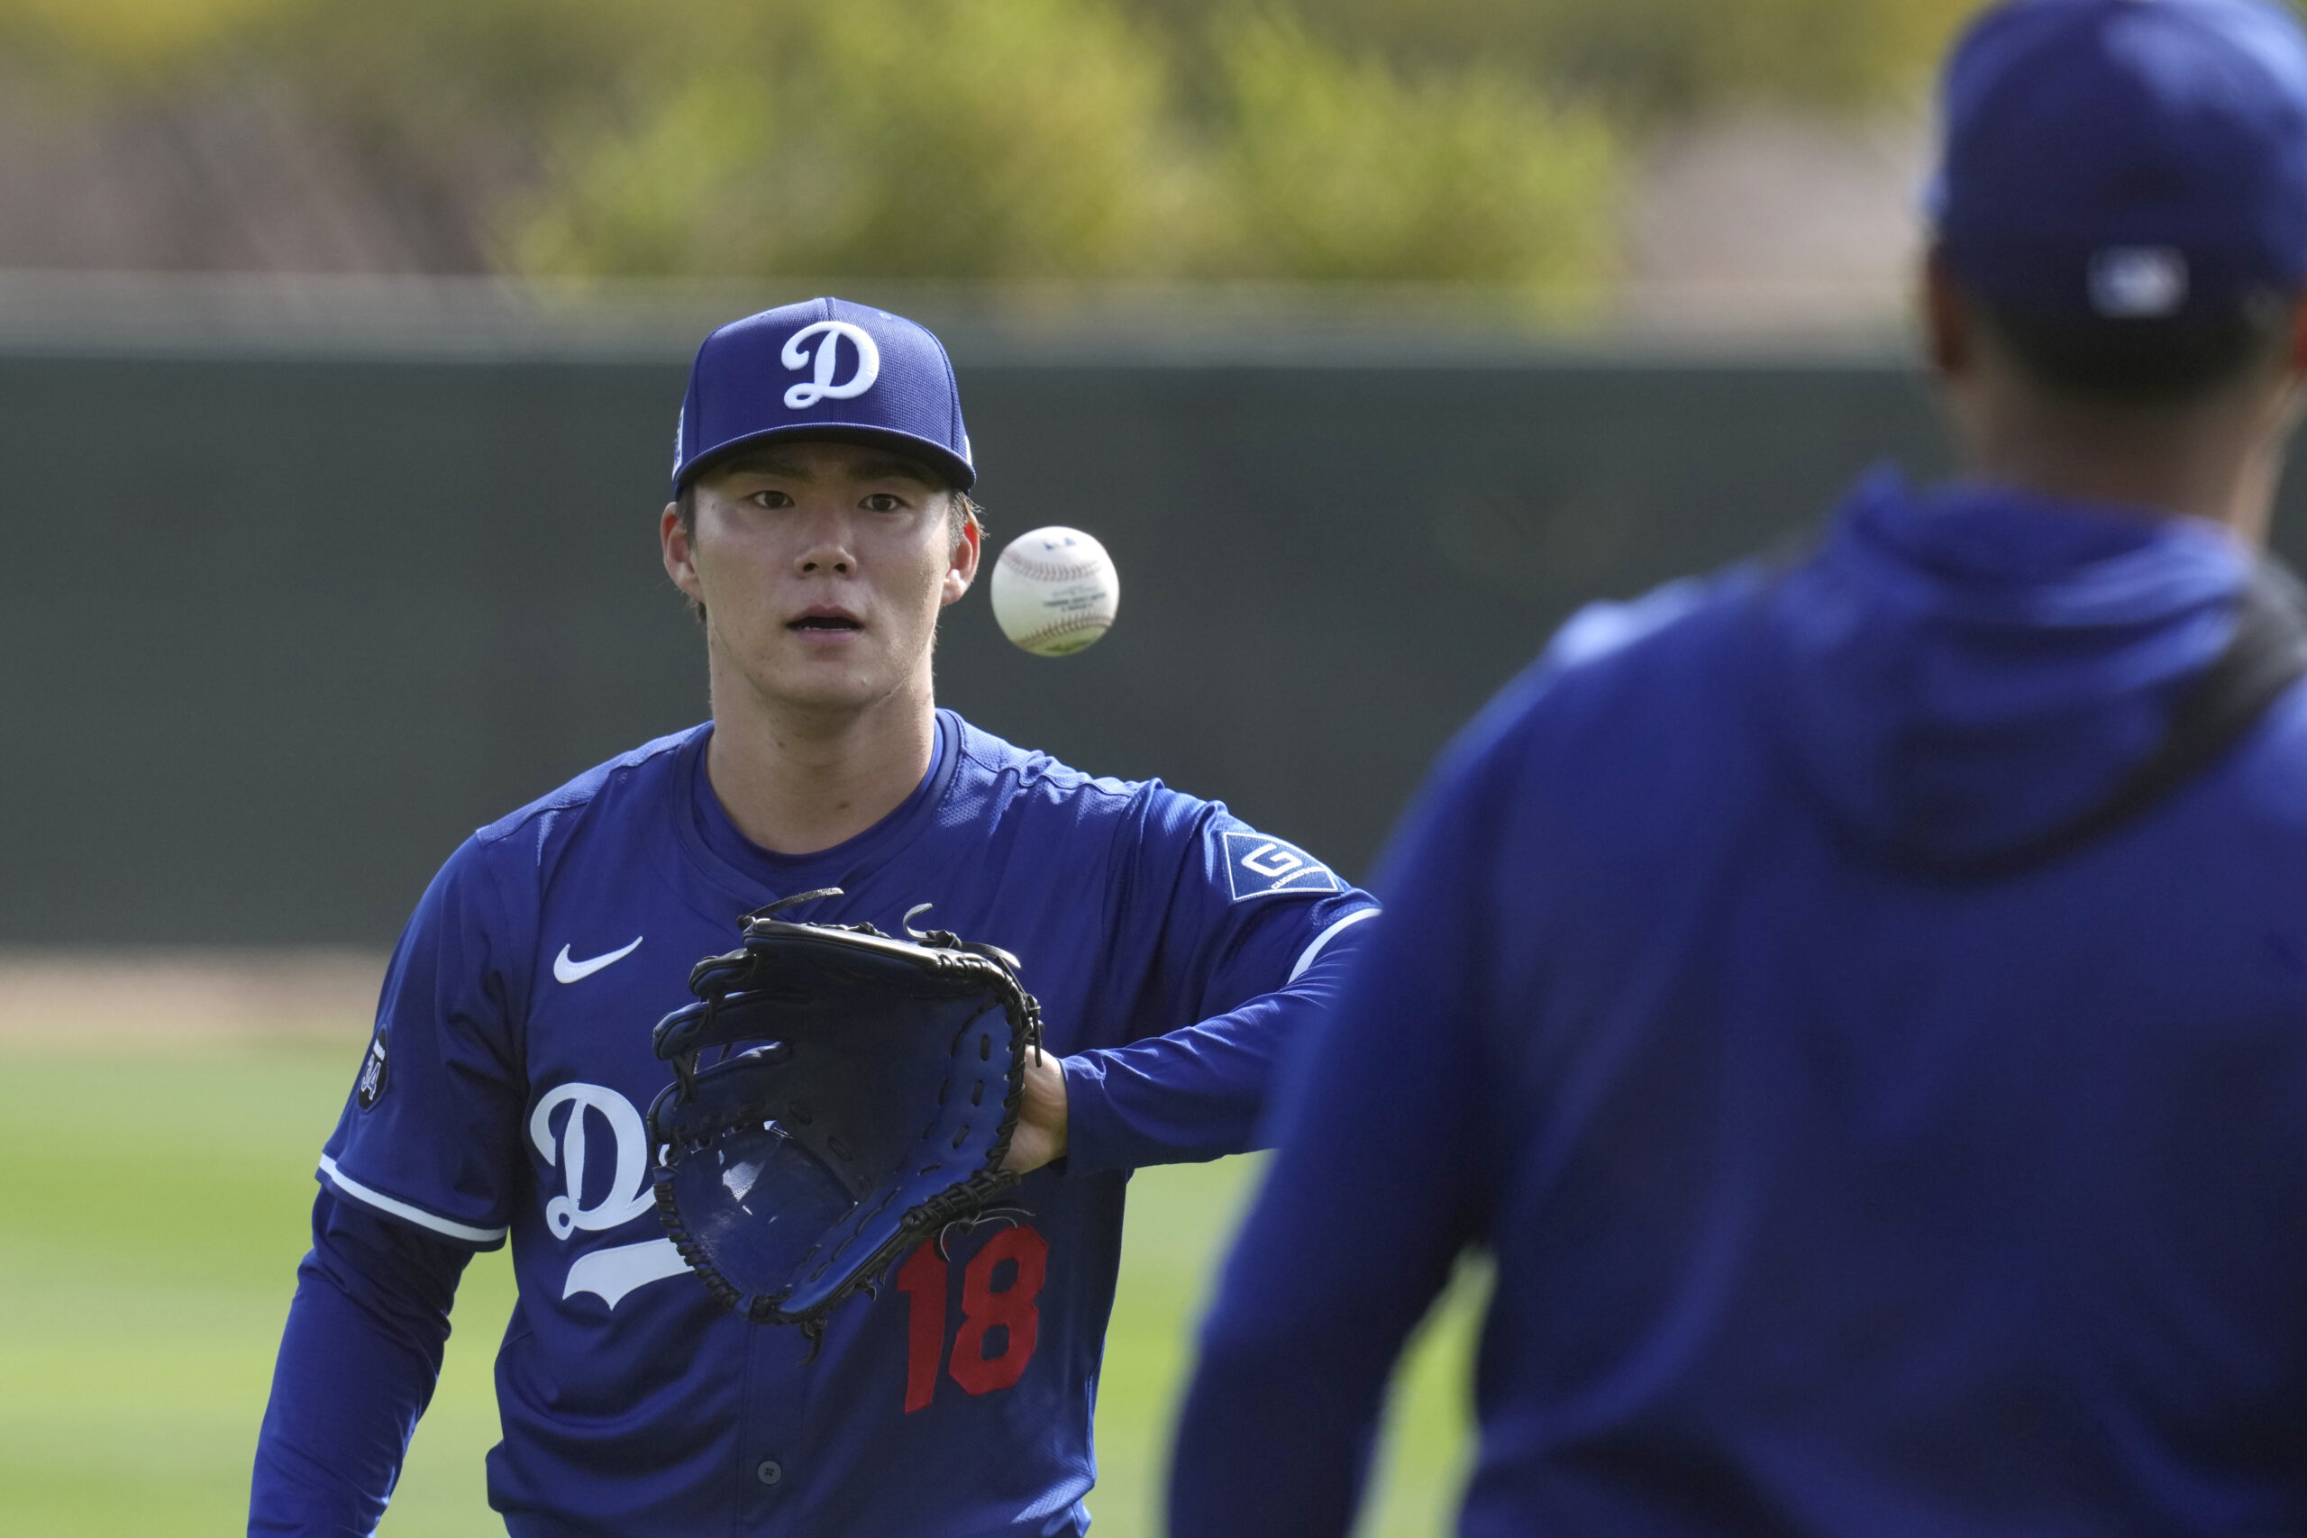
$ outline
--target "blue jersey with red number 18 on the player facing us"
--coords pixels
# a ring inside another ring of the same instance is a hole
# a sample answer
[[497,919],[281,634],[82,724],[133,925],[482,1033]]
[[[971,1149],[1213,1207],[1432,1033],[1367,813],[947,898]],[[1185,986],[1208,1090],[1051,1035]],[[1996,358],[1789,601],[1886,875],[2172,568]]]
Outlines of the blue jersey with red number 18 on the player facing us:
[[[468,1245],[510,1236],[489,1496],[517,1536],[1075,1533],[1128,1167],[1250,1144],[1267,1061],[1213,1017],[1255,1015],[1375,906],[1223,805],[1084,777],[950,713],[897,812],[771,855],[713,800],[708,733],[457,851],[394,952],[321,1178]],[[641,1118],[669,1081],[651,1026],[690,1001],[690,966],[745,911],[828,885],[844,895],[801,918],[902,934],[927,902],[918,925],[1022,957],[1070,1058],[1070,1148],[1006,1199],[1015,1224],[914,1252],[803,1360],[796,1330],[736,1319],[683,1268]]]

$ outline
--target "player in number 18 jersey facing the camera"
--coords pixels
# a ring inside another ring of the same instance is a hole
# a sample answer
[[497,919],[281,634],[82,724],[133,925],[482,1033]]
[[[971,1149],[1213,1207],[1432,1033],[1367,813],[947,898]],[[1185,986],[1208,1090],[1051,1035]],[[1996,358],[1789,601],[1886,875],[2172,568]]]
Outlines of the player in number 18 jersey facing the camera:
[[[521,1538],[1080,1533],[1130,1169],[1250,1146],[1269,1065],[1373,902],[1158,782],[932,703],[978,570],[953,369],[842,300],[697,353],[662,514],[713,719],[475,832],[401,934],[321,1155],[251,1533],[367,1533],[457,1275],[512,1243],[489,1501]],[[651,1026],[768,902],[1001,945],[1043,1005],[1013,1224],[798,1330],[724,1312],[651,1204]]]

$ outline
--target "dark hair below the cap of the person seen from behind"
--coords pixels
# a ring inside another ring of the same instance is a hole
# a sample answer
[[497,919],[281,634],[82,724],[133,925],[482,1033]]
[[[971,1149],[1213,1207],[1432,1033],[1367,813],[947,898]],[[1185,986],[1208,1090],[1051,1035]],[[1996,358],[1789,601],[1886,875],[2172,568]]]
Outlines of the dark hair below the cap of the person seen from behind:
[[1984,304],[1984,314],[2028,378],[2106,406],[2187,406],[2291,346],[2291,304],[2277,295],[2141,321],[2044,318],[1993,304]]

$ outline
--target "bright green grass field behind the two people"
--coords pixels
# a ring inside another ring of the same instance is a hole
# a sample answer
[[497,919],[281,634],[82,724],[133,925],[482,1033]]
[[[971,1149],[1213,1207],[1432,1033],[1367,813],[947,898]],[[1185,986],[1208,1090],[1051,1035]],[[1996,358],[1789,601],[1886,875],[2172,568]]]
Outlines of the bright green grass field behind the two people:
[[[0,1042],[0,1533],[240,1531],[311,1164],[358,1056],[360,1042]],[[1253,1176],[1255,1160],[1225,1160],[1130,1188],[1098,1397],[1098,1538],[1160,1531],[1193,1324]],[[1474,1291],[1460,1287],[1419,1340],[1368,1533],[1449,1531]],[[510,1305],[503,1252],[475,1261],[385,1538],[503,1533],[480,1460]]]

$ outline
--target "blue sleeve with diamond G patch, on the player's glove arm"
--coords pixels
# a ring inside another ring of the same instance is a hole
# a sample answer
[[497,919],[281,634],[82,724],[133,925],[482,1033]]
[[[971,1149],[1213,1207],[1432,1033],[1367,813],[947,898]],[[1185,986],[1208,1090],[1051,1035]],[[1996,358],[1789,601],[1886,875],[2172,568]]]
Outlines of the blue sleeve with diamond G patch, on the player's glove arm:
[[1276,1063],[1333,1003],[1377,915],[1368,892],[1216,802],[1156,791],[1130,835],[1114,904],[1128,1005],[1100,1021],[1107,1045],[1066,1058],[1073,1169],[1255,1146]]

